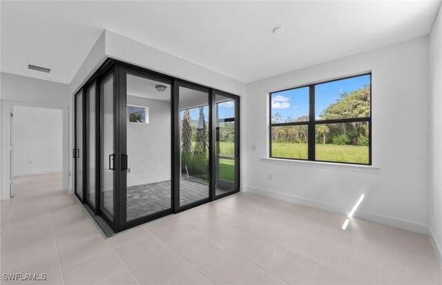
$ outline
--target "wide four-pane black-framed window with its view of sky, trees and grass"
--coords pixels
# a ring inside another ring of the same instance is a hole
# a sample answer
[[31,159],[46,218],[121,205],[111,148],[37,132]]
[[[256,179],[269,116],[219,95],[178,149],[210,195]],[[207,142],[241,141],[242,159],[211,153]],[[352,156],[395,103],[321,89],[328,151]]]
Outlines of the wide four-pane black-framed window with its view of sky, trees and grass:
[[270,94],[270,157],[372,164],[372,75]]

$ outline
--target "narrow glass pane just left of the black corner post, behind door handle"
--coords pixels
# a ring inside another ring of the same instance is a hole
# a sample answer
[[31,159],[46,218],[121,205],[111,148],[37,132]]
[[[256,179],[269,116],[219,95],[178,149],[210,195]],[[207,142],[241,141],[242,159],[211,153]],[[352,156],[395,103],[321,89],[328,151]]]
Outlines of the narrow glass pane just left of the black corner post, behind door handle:
[[115,150],[114,142],[114,104],[113,77],[101,83],[102,99],[102,183],[101,210],[104,215],[113,220],[113,168]]

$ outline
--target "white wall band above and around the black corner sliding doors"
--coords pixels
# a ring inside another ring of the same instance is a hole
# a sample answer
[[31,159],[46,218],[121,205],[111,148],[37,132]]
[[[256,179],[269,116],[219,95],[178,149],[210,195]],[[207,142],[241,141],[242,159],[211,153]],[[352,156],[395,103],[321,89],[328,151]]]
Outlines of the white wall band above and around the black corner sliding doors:
[[[77,75],[75,75],[75,78],[71,81],[71,101],[73,101],[73,92],[79,89],[81,84],[93,74],[106,57],[126,61],[137,66],[162,72],[166,75],[172,75],[177,78],[186,79],[187,81],[240,95],[240,110],[242,116],[247,112],[247,110],[243,108],[246,100],[244,97],[246,94],[245,83],[108,30],[105,30],[103,35],[99,37],[97,43],[95,43],[95,46],[81,65],[79,72],[77,72]],[[70,117],[72,117],[72,114]],[[241,121],[241,146],[247,141],[244,130],[245,122]],[[73,132],[72,126],[71,132]],[[245,176],[247,162],[246,153],[242,151],[242,148],[240,148],[240,156],[242,159],[241,188],[245,188],[247,185],[247,177]]]

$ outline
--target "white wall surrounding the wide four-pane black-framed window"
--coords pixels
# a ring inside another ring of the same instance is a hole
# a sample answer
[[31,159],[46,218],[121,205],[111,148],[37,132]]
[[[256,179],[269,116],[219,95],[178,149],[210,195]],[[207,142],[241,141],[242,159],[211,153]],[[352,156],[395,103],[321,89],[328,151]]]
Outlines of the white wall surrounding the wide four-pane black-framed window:
[[[268,157],[268,93],[372,70],[373,166],[281,164]],[[247,85],[248,190],[427,232],[428,37]],[[251,147],[256,146],[256,151]],[[313,167],[310,167],[313,166]],[[272,180],[268,179],[272,175]]]

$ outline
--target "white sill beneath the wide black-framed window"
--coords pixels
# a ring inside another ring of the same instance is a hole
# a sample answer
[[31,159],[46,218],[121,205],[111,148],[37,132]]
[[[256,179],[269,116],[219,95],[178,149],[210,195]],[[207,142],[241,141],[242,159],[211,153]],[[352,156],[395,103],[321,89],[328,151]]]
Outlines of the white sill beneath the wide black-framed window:
[[284,164],[288,166],[301,166],[311,168],[323,168],[332,170],[352,171],[358,173],[379,173],[381,168],[376,166],[366,166],[358,164],[339,164],[334,162],[322,162],[322,161],[302,161],[291,159],[279,159],[279,158],[263,158],[262,162],[266,164]]

